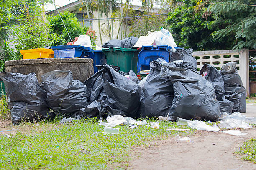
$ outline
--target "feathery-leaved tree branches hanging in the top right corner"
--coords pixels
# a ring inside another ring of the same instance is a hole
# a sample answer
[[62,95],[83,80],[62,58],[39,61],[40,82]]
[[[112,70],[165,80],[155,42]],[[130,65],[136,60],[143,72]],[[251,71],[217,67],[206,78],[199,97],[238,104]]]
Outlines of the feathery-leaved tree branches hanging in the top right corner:
[[207,5],[204,17],[214,18],[215,23],[224,22],[225,27],[215,30],[212,35],[215,40],[235,35],[234,49],[256,48],[256,1],[255,0],[214,0],[205,1]]

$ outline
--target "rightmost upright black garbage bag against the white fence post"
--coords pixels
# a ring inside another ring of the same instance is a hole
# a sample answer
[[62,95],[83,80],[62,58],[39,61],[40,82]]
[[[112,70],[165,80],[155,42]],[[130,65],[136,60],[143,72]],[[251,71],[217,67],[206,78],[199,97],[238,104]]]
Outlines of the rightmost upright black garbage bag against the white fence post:
[[221,75],[224,80],[226,95],[232,95],[229,98],[234,102],[232,112],[246,112],[246,89],[236,70],[236,62],[229,62],[221,67]]

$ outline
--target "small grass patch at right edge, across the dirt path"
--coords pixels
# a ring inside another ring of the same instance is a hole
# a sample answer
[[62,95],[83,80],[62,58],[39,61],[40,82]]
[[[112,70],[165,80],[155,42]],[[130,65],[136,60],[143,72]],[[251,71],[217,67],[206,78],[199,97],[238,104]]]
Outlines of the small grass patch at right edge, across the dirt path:
[[252,163],[256,163],[256,138],[246,140],[236,153],[243,155],[243,160],[249,160]]

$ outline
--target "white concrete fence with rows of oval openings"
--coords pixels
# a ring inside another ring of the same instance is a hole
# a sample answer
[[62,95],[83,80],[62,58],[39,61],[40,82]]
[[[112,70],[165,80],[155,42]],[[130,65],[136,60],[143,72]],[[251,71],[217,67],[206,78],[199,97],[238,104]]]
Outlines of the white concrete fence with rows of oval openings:
[[220,69],[220,67],[228,62],[236,62],[238,74],[242,79],[243,86],[246,88],[246,95],[250,96],[248,49],[195,51],[193,52],[193,56],[197,59],[197,67],[199,69],[201,69],[205,63],[214,65],[216,68]]

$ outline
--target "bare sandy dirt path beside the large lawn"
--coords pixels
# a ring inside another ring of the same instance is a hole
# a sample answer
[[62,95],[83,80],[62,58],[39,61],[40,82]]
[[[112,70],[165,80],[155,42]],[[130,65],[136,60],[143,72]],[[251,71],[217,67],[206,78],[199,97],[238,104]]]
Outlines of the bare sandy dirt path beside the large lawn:
[[[239,129],[240,130],[240,129]],[[234,154],[244,140],[256,137],[256,130],[236,137],[222,132],[197,131],[192,142],[177,143],[174,137],[155,141],[149,147],[133,148],[129,170],[252,170],[256,164]]]

